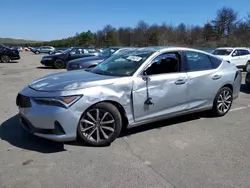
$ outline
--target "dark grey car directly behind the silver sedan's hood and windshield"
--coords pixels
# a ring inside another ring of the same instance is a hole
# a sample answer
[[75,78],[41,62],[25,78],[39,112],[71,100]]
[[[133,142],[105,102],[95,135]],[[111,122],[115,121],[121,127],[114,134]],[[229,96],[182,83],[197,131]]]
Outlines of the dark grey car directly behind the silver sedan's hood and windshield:
[[113,54],[117,54],[122,51],[134,49],[133,47],[110,47],[103,50],[98,56],[80,58],[76,60],[69,61],[67,64],[67,70],[77,70],[77,69],[91,69],[104,61],[105,59],[111,57]]

